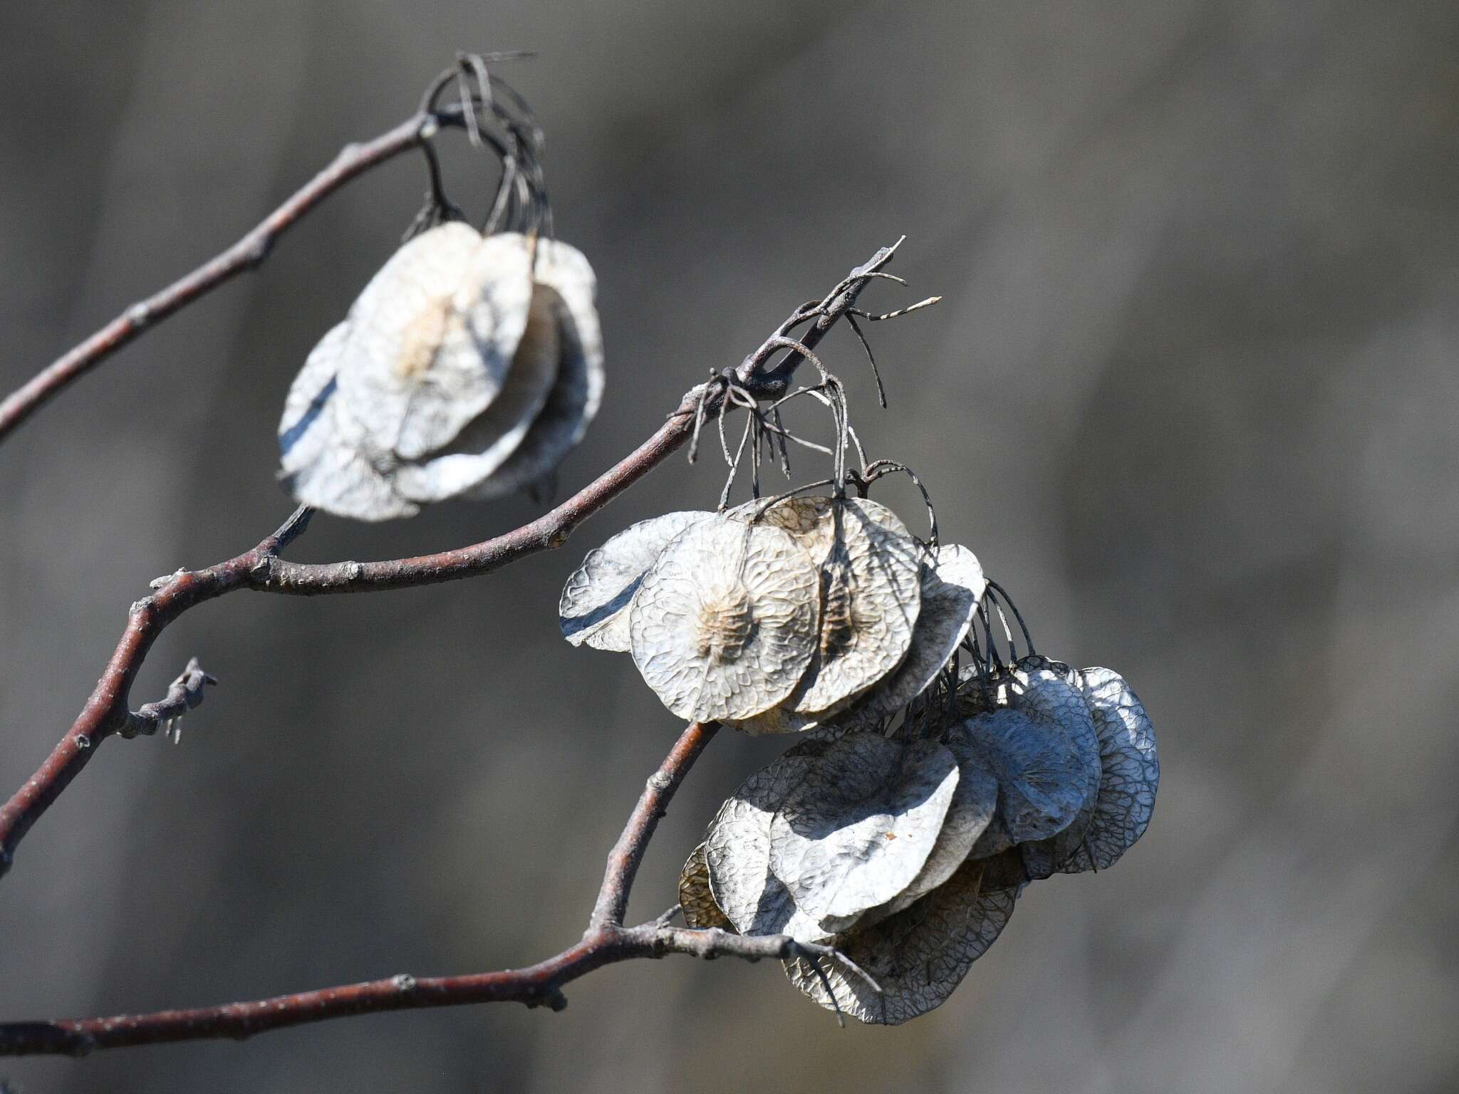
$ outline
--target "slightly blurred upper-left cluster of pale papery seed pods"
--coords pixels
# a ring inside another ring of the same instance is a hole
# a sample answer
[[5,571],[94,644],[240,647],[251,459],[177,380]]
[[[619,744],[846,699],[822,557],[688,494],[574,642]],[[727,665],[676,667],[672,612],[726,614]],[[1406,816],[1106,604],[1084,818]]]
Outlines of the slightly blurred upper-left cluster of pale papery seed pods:
[[285,487],[362,521],[537,489],[603,395],[595,290],[563,242],[460,220],[414,236],[289,389]]

